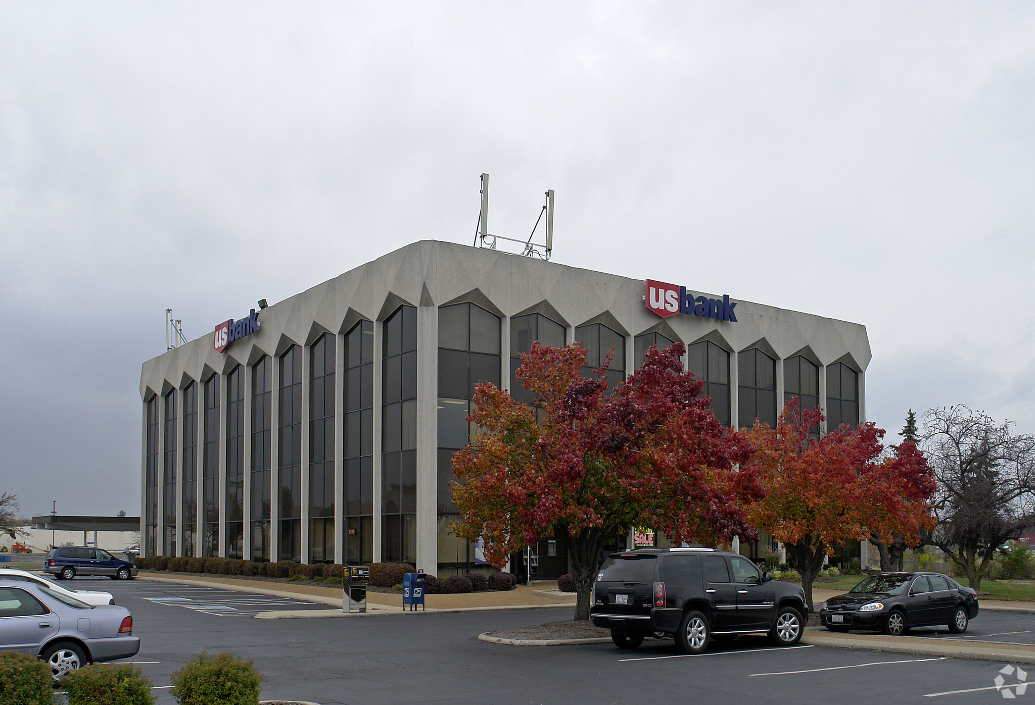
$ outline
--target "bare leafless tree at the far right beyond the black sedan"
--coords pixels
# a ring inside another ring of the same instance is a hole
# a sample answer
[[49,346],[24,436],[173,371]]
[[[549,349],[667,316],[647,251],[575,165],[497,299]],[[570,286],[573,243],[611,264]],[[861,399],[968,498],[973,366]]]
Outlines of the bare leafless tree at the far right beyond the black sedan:
[[980,589],[996,549],[1035,524],[1035,436],[968,406],[928,409],[923,449],[938,477],[937,546]]

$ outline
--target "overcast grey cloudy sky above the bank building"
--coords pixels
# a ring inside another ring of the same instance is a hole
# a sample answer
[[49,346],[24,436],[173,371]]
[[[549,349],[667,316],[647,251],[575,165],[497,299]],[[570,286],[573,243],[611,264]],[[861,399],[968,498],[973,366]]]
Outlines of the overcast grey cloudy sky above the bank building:
[[421,239],[864,324],[1035,432],[1035,7],[0,4],[0,491],[140,507],[140,365]]

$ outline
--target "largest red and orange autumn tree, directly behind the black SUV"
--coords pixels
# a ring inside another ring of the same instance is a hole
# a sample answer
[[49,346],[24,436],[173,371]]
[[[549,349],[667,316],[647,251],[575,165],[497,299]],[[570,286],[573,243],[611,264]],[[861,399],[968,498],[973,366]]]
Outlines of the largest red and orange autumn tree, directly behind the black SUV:
[[580,376],[581,345],[536,343],[516,372],[536,396],[532,407],[478,385],[470,419],[481,431],[453,457],[459,535],[482,537],[486,559],[501,566],[552,533],[569,558],[575,619],[589,618],[604,547],[633,525],[677,545],[757,538],[743,508],[760,488],[751,471],[734,470],[750,449],[708,409],[683,351],[651,348],[607,394],[603,369]]

